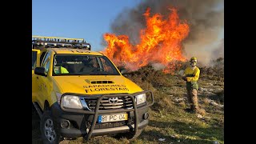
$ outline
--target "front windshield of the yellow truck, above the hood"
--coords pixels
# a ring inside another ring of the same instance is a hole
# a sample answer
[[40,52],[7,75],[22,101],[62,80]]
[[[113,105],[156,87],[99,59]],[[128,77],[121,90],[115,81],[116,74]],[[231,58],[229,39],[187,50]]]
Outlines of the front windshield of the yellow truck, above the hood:
[[106,56],[56,54],[53,75],[120,75]]

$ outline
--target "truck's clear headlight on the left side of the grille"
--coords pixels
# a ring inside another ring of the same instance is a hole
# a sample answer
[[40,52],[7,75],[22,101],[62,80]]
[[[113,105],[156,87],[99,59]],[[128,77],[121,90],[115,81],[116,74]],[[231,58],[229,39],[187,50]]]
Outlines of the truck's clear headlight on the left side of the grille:
[[71,109],[82,109],[82,104],[78,96],[65,95],[62,97],[62,106]]

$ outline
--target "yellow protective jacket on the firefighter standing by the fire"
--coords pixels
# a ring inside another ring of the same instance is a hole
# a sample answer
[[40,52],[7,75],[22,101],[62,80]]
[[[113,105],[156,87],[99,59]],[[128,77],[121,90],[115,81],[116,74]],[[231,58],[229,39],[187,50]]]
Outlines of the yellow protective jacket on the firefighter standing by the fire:
[[198,78],[200,75],[200,70],[196,66],[194,70],[191,67],[187,67],[185,72],[186,76],[186,89],[187,90],[198,90]]

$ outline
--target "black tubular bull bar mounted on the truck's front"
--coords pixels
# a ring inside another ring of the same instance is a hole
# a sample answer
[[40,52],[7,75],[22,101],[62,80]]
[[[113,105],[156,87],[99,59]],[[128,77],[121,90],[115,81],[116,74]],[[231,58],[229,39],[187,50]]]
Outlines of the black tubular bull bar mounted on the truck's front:
[[[137,104],[135,102],[135,96],[139,95],[139,94],[146,94],[146,105],[144,106],[139,106],[137,107]],[[94,127],[95,124],[97,122],[98,119],[98,114],[111,114],[111,113],[122,113],[122,112],[130,112],[130,111],[134,111],[134,135],[138,133],[138,110],[142,110],[145,109],[147,107],[153,106],[154,104],[154,95],[152,93],[152,91],[150,90],[146,90],[146,91],[142,91],[142,92],[138,92],[138,93],[134,93],[134,94],[95,94],[95,95],[86,95],[86,94],[70,94],[70,93],[66,93],[62,95],[62,98],[65,95],[75,95],[78,96],[80,98],[82,97],[89,97],[89,98],[97,98],[97,103],[95,106],[94,111],[92,110],[78,110],[78,109],[70,109],[70,108],[66,108],[64,106],[61,105],[61,108],[63,111],[66,112],[74,112],[74,113],[83,113],[83,114],[94,114],[94,118],[93,121],[91,122],[90,125],[90,130],[89,132],[86,134],[86,136],[84,137],[86,140],[89,140],[91,135],[93,134],[94,131]],[[99,106],[100,106],[100,102],[102,101],[103,98],[114,98],[114,97],[126,97],[128,96],[133,103],[133,108],[132,109],[122,109],[122,110],[99,110]],[[60,102],[62,102],[62,98],[60,100]],[[149,99],[151,98],[151,99]],[[147,102],[148,100],[151,100],[151,102]]]

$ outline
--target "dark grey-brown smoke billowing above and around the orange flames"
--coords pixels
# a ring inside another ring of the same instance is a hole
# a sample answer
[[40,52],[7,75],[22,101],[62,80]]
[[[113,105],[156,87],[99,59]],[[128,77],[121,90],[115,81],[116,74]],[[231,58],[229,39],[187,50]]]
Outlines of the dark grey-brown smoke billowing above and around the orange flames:
[[[125,9],[111,24],[112,33],[128,35],[130,43],[139,42],[139,32],[146,27],[143,14],[147,7],[150,13],[170,14],[170,6],[178,9],[179,17],[190,25],[190,34],[183,44],[183,54],[209,64],[218,55],[219,34],[224,27],[224,0],[147,0],[132,9]],[[223,47],[224,49],[224,47]]]

